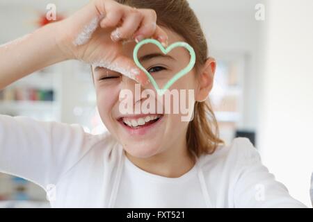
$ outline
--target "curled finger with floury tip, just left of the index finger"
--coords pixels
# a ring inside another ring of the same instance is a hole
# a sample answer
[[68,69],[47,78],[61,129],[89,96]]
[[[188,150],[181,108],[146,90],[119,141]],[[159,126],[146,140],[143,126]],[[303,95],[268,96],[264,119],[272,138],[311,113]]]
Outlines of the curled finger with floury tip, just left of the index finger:
[[112,32],[112,40],[117,42],[119,40],[127,40],[131,38],[137,31],[142,19],[143,15],[141,12],[135,9],[129,10],[126,17],[123,18],[124,22],[122,23],[122,26],[116,28],[115,31]]

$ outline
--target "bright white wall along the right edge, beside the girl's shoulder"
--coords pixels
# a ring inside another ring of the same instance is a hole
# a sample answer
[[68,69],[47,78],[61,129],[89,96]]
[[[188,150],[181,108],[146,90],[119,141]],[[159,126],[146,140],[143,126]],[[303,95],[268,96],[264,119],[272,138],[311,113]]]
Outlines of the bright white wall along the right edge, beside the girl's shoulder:
[[264,164],[307,206],[313,171],[313,1],[266,3],[258,147]]

